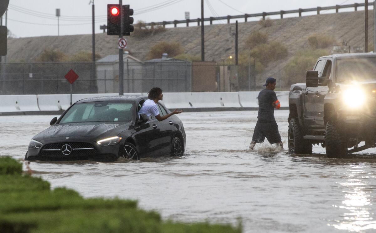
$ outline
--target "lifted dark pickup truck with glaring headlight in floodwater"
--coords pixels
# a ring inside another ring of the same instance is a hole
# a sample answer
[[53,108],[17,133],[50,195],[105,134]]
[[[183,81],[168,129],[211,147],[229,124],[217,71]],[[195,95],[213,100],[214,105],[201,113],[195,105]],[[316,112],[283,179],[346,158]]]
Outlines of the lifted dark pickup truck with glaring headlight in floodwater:
[[327,157],[376,147],[376,53],[320,57],[306,82],[291,85],[289,153],[312,153],[321,144]]

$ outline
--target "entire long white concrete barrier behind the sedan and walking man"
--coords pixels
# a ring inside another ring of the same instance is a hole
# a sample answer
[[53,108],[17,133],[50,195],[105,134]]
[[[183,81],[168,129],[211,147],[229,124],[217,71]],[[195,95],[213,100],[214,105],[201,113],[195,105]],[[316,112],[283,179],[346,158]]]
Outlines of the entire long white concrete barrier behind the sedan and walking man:
[[[164,93],[167,108],[184,111],[258,110],[259,92],[182,92]],[[73,103],[84,98],[115,96],[111,94],[73,94]],[[125,93],[124,95],[147,95]],[[282,109],[288,109],[288,92],[276,92]],[[58,114],[70,106],[70,95],[0,95],[1,115]]]

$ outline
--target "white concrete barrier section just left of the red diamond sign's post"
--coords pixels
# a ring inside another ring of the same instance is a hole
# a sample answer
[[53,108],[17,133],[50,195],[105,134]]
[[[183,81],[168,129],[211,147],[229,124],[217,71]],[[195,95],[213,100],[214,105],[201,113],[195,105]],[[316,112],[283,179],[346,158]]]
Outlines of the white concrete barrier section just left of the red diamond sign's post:
[[37,95],[38,105],[41,111],[67,110],[70,106],[70,95]]

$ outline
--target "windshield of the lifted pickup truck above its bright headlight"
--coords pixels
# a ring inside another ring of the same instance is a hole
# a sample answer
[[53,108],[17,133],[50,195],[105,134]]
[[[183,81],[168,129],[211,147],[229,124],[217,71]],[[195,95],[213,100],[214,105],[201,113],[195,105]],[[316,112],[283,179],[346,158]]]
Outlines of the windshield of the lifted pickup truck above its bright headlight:
[[337,82],[376,78],[376,57],[337,60]]

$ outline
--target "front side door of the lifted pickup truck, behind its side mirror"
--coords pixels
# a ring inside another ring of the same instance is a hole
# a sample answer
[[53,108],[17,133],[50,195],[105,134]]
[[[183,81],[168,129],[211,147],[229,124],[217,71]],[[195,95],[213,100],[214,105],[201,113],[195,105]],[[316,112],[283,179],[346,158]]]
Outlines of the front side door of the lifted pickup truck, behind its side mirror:
[[323,73],[320,76],[320,72],[318,77],[325,77],[323,80],[318,81],[317,93],[315,97],[315,108],[316,108],[316,116],[315,116],[315,123],[318,128],[323,129],[325,128],[324,125],[324,98],[329,92],[328,81],[332,79],[332,59],[328,58],[326,60]]

